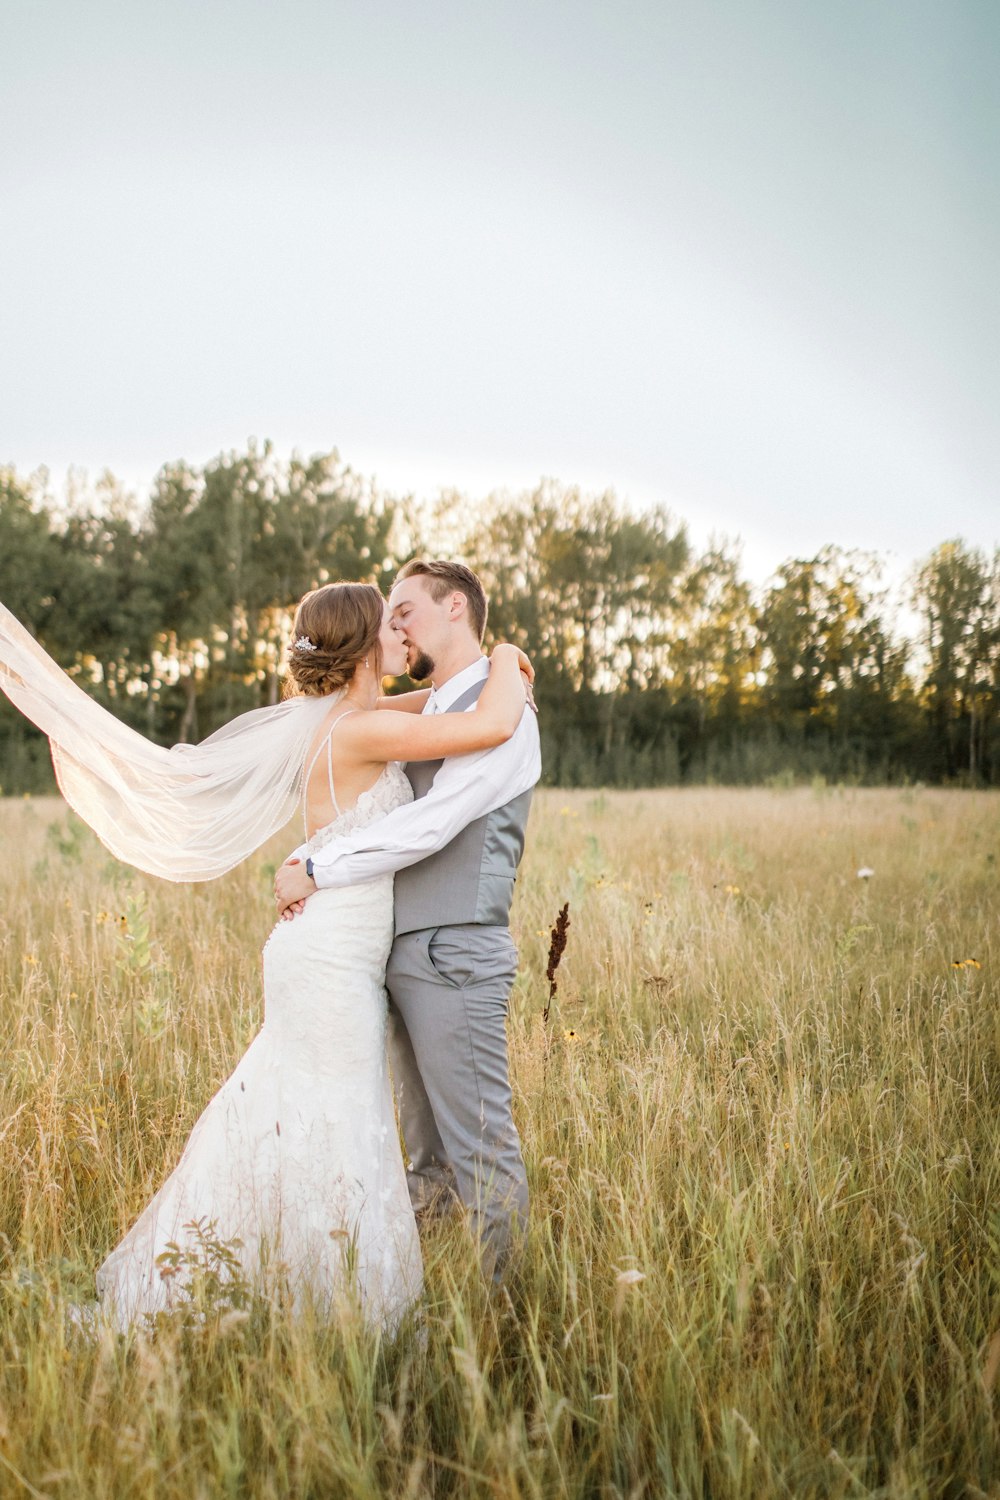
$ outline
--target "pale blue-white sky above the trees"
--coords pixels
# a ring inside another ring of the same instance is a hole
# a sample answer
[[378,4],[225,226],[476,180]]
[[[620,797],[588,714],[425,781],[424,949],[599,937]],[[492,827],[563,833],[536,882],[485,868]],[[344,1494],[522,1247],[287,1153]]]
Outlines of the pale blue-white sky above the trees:
[[996,0],[3,0],[0,464],[1000,543]]

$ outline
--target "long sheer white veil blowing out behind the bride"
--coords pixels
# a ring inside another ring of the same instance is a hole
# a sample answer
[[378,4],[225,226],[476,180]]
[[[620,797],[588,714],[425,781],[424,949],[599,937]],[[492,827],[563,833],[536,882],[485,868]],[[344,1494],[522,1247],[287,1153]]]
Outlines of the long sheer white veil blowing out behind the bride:
[[342,694],[256,708],[198,746],[154,746],[96,704],[0,604],[0,688],[51,744],[60,790],[118,860],[211,880],[295,812],[306,752]]

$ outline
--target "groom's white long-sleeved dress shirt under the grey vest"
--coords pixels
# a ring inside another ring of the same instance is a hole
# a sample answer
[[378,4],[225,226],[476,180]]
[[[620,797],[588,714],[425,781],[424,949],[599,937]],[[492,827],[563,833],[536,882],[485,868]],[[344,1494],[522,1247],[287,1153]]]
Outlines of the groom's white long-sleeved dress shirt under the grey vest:
[[[424,714],[444,714],[474,682],[489,676],[487,657],[480,657],[462,672],[430,690]],[[466,710],[474,712],[475,705]],[[433,778],[430,790],[406,807],[397,807],[369,828],[346,838],[334,838],[312,856],[318,886],[358,885],[376,874],[403,870],[451,843],[454,836],[477,818],[520,796],[541,776],[538,722],[525,706],[522,720],[504,744],[471,754],[448,756]],[[298,852],[298,850],[297,850]],[[304,858],[300,855],[300,858]]]

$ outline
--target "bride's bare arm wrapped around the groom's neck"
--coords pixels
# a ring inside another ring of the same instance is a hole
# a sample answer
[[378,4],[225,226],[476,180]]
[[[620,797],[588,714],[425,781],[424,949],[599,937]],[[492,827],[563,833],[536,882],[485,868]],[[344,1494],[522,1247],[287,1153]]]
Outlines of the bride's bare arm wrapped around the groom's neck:
[[525,711],[525,684],[517,646],[496,646],[490,675],[468,714],[408,714],[385,710],[352,714],[340,730],[355,754],[367,760],[438,760],[502,744]]

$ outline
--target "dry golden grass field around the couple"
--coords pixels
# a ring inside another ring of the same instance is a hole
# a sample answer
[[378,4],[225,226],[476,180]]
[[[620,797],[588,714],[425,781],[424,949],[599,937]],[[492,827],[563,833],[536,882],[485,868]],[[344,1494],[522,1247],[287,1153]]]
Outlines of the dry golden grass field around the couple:
[[540,794],[531,1238],[504,1299],[438,1230],[382,1344],[67,1322],[259,1024],[294,838],[169,886],[55,800],[0,832],[4,1500],[1000,1496],[996,795]]

